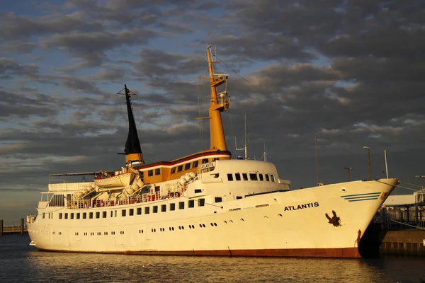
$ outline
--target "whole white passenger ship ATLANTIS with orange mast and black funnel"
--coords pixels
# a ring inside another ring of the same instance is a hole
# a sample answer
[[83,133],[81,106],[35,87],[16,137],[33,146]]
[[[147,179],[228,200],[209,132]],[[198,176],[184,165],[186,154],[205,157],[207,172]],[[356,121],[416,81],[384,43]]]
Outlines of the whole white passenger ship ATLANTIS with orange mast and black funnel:
[[[210,81],[210,149],[145,163],[125,86],[129,133],[116,171],[52,174],[38,214],[27,216],[39,250],[142,255],[359,258],[358,244],[395,178],[292,190],[266,161],[232,158],[221,112],[227,74]],[[219,92],[218,89],[224,91]],[[74,175],[92,182],[72,183]]]

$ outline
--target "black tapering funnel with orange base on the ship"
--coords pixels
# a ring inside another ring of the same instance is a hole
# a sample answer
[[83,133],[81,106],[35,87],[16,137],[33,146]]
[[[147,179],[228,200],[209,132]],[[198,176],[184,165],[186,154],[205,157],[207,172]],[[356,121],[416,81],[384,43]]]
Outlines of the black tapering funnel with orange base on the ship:
[[140,148],[140,141],[137,135],[137,128],[135,117],[132,113],[130,94],[135,96],[135,93],[132,93],[127,88],[127,85],[124,85],[125,93],[121,93],[121,91],[117,94],[125,94],[125,103],[127,105],[127,113],[128,113],[128,137],[127,141],[125,141],[125,163],[128,162],[139,162],[139,164],[145,164],[143,161],[142,149]]

